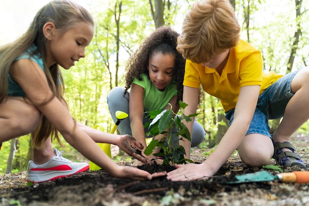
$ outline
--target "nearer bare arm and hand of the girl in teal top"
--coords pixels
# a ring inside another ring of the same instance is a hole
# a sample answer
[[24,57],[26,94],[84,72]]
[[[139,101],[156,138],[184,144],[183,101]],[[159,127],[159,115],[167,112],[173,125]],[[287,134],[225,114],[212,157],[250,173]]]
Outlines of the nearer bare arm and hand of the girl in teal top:
[[27,59],[16,61],[10,68],[10,75],[66,141],[86,158],[116,177],[151,178],[148,172],[137,169],[131,173],[126,173],[128,169],[119,167],[91,137],[77,126],[66,106],[53,97],[45,74],[39,68],[39,65]]

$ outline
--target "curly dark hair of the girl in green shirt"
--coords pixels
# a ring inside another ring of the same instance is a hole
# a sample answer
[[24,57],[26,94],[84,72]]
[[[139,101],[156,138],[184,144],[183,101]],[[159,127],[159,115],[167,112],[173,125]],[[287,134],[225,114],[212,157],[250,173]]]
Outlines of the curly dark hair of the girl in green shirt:
[[162,26],[157,28],[154,33],[150,34],[137,49],[137,51],[130,57],[125,76],[125,91],[124,95],[131,87],[135,78],[142,80],[141,74],[145,73],[149,77],[148,64],[149,59],[154,54],[173,54],[175,58],[175,69],[173,71],[173,80],[177,84],[177,103],[182,100],[183,96],[183,81],[185,75],[186,60],[176,49],[177,37],[179,34],[171,28]]

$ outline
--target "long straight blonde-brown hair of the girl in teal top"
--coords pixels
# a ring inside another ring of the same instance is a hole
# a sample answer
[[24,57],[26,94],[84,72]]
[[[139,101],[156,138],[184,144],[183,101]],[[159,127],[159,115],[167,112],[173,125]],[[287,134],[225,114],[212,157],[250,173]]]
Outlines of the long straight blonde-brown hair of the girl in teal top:
[[[36,45],[37,50],[30,55],[40,55],[43,60],[44,73],[49,88],[53,94],[63,100],[64,82],[58,64],[47,67],[46,64],[46,38],[43,34],[43,26],[47,22],[55,24],[60,34],[74,28],[77,23],[86,22],[94,25],[91,14],[82,6],[71,0],[52,0],[43,6],[35,16],[30,27],[20,38],[0,48],[0,103],[6,100],[8,90],[8,72],[14,60]],[[48,103],[49,100],[40,103]],[[34,133],[34,147],[39,148],[49,136],[54,136],[61,144],[56,129],[44,116]]]

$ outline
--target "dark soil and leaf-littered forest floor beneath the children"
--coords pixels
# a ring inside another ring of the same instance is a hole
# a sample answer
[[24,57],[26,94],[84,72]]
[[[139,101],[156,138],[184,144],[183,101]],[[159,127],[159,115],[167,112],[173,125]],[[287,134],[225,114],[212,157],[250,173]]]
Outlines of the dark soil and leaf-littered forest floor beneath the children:
[[[292,137],[297,153],[309,166],[309,137]],[[192,160],[203,162],[208,151],[194,149]],[[130,162],[119,162],[130,165]],[[271,159],[270,165],[276,165]],[[299,168],[283,169],[292,172]],[[26,172],[0,175],[2,206],[309,206],[309,184],[278,180],[228,184],[234,175],[268,171],[246,168],[237,154],[207,180],[171,182],[165,177],[153,180],[119,179],[105,171],[87,171],[53,181],[27,185]],[[309,168],[307,168],[309,171]]]

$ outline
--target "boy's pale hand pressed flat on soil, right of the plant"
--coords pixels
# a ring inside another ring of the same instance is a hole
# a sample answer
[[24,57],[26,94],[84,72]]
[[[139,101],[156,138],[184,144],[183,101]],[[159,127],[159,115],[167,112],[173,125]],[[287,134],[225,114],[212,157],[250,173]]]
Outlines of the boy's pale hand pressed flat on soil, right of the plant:
[[167,173],[167,179],[172,181],[192,181],[196,179],[208,179],[211,175],[205,175],[203,164],[187,164],[187,165],[177,165],[174,167],[176,170]]

